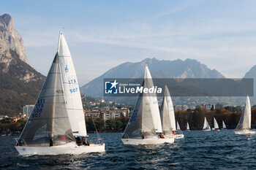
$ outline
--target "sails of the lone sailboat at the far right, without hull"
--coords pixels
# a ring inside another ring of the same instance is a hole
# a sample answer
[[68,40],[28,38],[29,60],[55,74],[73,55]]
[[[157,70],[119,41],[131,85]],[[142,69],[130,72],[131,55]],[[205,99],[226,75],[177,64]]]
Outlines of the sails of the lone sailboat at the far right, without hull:
[[236,127],[235,131],[243,131],[243,130],[249,130],[251,128],[251,104],[249,101],[249,96],[246,97],[246,103],[244,107],[244,112],[241,115],[241,118],[239,120],[239,123]]

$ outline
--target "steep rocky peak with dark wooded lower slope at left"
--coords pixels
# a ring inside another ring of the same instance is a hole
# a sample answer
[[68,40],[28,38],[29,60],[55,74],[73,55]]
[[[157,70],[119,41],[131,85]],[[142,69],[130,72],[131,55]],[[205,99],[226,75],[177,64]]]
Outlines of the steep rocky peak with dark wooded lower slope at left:
[[10,15],[0,16],[0,115],[17,115],[34,104],[45,77],[29,66],[23,39]]

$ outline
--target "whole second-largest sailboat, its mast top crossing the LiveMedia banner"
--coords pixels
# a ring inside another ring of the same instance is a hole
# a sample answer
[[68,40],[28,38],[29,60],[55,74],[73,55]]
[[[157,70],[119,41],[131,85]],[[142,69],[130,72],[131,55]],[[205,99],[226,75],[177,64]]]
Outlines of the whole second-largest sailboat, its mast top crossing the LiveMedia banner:
[[[145,66],[143,88],[154,86],[148,66]],[[159,135],[158,135],[159,134]],[[162,136],[162,123],[159,114],[157,96],[140,93],[121,142],[124,144],[163,144],[173,143],[174,138]]]

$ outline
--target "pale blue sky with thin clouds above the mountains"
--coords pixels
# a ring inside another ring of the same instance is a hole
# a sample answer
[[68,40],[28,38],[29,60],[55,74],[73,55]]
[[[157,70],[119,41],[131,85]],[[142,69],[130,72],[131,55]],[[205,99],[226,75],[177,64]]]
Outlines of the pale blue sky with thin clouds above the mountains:
[[196,59],[225,77],[256,64],[256,1],[1,1],[46,75],[64,31],[80,85],[121,63]]

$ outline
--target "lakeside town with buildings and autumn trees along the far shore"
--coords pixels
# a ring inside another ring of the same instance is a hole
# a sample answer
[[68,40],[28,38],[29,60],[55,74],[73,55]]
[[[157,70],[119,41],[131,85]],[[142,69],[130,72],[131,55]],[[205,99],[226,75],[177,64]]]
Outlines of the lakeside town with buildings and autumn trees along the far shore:
[[[133,105],[118,104],[114,101],[85,95],[82,96],[82,101],[86,128],[91,133],[94,133],[96,129],[99,132],[124,131],[134,109]],[[223,106],[222,104],[174,105],[173,108],[181,129],[185,129],[186,123],[190,122],[192,130],[200,129],[204,116],[208,117],[210,123],[212,117],[216,117],[219,122],[225,120],[227,128],[236,128],[243,109],[241,106]],[[255,125],[255,108],[256,106],[252,107],[252,126]],[[20,134],[33,109],[34,105],[31,104],[23,106],[23,112],[15,116],[0,115],[0,134],[2,136]],[[189,119],[192,116],[197,118]]]

